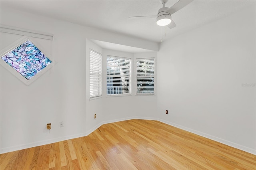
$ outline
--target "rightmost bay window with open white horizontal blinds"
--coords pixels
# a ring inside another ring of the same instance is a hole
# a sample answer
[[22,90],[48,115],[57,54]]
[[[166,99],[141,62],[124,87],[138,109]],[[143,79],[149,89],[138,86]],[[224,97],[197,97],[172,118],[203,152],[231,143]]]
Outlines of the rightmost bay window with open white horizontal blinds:
[[136,59],[136,94],[154,94],[155,59]]

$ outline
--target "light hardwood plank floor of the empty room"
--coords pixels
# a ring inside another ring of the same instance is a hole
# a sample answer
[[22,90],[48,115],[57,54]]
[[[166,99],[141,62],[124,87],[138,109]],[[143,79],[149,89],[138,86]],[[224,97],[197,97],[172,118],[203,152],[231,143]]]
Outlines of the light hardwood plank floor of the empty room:
[[1,170],[256,169],[253,154],[158,121],[137,119],[0,158]]

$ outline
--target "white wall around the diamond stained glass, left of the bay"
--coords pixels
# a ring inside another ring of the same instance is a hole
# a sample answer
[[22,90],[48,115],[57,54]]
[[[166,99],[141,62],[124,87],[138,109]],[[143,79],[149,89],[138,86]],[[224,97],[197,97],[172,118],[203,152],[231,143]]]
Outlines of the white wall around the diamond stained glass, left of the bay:
[[[13,11],[3,14],[1,9],[1,24],[54,33],[53,57],[57,64],[29,86],[1,66],[1,153],[82,136],[85,132],[83,28],[28,15]],[[36,21],[22,23],[15,19],[18,16]],[[1,37],[1,44],[5,40]],[[62,128],[60,121],[64,122]],[[52,123],[50,133],[46,123]]]

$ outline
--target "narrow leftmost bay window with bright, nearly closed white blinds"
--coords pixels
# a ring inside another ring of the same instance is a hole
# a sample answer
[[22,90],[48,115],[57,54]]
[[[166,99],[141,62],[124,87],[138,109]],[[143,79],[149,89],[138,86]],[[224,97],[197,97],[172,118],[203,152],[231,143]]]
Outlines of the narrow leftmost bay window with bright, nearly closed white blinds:
[[102,95],[101,54],[90,49],[90,98]]

